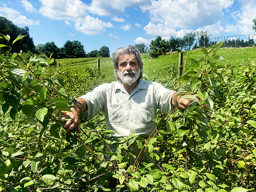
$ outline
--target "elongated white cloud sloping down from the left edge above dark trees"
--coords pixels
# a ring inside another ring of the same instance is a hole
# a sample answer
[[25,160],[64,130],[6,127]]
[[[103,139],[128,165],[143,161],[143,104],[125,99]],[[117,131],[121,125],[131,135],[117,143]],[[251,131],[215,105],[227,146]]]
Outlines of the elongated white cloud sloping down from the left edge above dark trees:
[[21,15],[20,12],[13,8],[0,7],[0,16],[6,17],[11,20],[14,24],[25,24],[25,25],[40,25],[39,21],[28,19],[26,16]]

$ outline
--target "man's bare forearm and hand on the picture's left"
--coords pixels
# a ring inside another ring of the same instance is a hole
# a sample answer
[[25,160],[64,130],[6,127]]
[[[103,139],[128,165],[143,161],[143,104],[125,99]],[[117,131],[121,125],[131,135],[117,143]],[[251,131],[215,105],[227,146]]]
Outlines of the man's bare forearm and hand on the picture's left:
[[74,129],[74,127],[76,127],[76,131],[78,133],[81,133],[79,116],[82,114],[82,112],[87,110],[85,99],[82,99],[82,98],[76,99],[74,106],[70,107],[70,109],[72,110],[72,112],[62,111],[62,115],[63,115],[62,119],[71,119],[70,121],[66,121],[63,127],[68,130],[72,130]]

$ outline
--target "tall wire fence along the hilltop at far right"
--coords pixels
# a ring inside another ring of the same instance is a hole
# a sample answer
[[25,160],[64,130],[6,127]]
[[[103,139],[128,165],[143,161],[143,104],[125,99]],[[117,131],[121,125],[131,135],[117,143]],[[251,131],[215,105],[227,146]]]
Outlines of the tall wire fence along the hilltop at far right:
[[196,43],[193,48],[197,48],[199,46],[210,47],[212,45],[215,45],[215,43],[217,43],[218,41],[223,41],[223,45],[222,45],[223,48],[252,47],[256,45],[254,38],[256,38],[256,34],[201,38],[201,39],[196,39]]

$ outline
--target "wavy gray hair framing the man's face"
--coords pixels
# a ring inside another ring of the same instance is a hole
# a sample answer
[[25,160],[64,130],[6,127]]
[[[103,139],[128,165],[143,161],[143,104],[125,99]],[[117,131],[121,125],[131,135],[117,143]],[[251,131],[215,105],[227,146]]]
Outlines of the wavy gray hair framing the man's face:
[[138,63],[139,63],[139,68],[141,68],[141,74],[139,76],[139,79],[142,78],[142,73],[143,73],[143,62],[141,59],[141,53],[139,50],[133,46],[133,45],[127,45],[126,47],[119,47],[115,53],[112,55],[112,63],[114,67],[114,73],[115,77],[117,80],[120,80],[118,75],[117,75],[117,69],[118,69],[118,62],[119,62],[119,56],[125,55],[125,54],[134,54]]

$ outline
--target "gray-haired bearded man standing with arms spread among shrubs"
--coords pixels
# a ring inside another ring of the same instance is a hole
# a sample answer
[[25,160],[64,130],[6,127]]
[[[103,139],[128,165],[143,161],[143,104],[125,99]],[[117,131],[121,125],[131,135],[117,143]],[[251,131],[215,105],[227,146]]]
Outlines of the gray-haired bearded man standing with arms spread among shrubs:
[[119,81],[102,84],[78,98],[71,107],[72,112],[62,113],[63,119],[71,119],[63,125],[64,128],[71,130],[76,127],[80,133],[79,116],[82,112],[85,111],[87,119],[91,119],[104,111],[107,129],[115,131],[111,136],[136,133],[146,138],[156,127],[152,120],[158,108],[167,113],[171,107],[186,109],[191,106],[193,100],[176,97],[175,91],[159,83],[140,79],[143,62],[136,47],[120,47],[112,60]]

